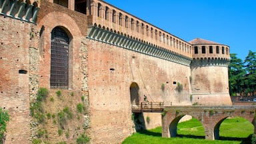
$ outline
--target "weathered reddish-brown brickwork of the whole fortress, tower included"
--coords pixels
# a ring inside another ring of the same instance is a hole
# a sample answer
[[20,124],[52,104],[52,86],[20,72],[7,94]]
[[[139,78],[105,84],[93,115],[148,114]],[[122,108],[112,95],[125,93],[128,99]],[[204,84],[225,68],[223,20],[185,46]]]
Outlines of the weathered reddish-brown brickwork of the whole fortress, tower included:
[[[44,128],[29,111],[40,87],[58,99],[58,89],[50,82],[56,27],[69,38],[69,83],[62,90],[65,102],[44,105],[51,113],[58,113],[67,103],[76,111],[83,96],[87,113],[67,126],[73,139],[58,136],[57,126],[49,124],[45,129],[53,143],[62,139],[75,143],[77,133],[83,133],[77,130],[81,125],[91,143],[121,143],[136,131],[131,107],[144,101],[144,95],[148,101],[172,105],[231,105],[227,45],[201,39],[184,41],[99,0],[80,1],[83,9],[74,0],[59,4],[31,1],[33,5],[25,7],[27,13],[19,17],[4,2],[0,1],[0,106],[11,115],[5,143],[31,143],[38,129]],[[23,8],[22,3],[17,5]],[[219,46],[219,53],[210,53],[211,46]],[[72,92],[74,97],[70,97]],[[160,113],[143,113],[143,127],[157,127],[161,118]]]

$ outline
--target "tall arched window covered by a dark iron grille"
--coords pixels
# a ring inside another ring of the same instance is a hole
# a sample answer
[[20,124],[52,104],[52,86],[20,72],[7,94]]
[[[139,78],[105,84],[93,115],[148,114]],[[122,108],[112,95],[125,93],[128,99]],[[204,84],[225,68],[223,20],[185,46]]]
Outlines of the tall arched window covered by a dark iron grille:
[[51,31],[51,75],[52,89],[69,87],[69,37],[60,27]]

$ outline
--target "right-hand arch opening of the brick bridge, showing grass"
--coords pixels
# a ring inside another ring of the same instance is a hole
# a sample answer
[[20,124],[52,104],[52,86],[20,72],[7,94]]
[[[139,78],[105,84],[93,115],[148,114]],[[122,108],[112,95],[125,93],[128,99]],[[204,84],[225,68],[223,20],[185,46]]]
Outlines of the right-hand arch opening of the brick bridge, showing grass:
[[[254,121],[254,119],[253,119]],[[254,133],[253,121],[249,121],[244,117],[224,117],[221,119],[214,127],[214,139],[234,139],[234,137],[230,137],[229,131],[232,133],[241,133],[235,129],[243,129],[243,135],[245,137],[236,137],[236,138],[247,138],[251,134]],[[229,127],[230,125],[230,127]],[[224,127],[229,127],[229,129],[225,129]]]

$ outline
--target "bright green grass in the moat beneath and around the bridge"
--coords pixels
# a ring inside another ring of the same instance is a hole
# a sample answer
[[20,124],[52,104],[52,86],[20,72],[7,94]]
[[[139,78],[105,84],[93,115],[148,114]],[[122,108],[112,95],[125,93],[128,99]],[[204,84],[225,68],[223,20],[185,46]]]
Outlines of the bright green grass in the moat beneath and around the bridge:
[[177,137],[161,137],[161,127],[139,131],[127,137],[123,144],[127,143],[250,143],[250,135],[253,134],[253,125],[241,118],[225,119],[219,128],[220,140],[206,140],[203,125],[193,118],[177,125]]

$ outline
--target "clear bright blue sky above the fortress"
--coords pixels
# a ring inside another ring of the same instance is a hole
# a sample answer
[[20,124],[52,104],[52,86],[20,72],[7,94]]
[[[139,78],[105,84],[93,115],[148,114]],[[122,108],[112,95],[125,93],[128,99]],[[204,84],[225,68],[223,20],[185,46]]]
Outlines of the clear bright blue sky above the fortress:
[[105,0],[185,41],[229,45],[244,60],[256,52],[256,0]]

